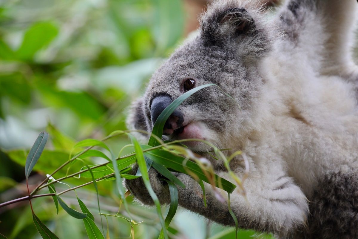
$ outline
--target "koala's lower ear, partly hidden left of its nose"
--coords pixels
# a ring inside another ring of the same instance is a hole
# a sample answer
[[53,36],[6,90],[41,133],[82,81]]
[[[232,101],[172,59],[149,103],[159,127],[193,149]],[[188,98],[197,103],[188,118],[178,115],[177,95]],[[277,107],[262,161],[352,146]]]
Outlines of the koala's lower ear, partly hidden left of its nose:
[[[128,129],[134,129],[134,130],[144,130],[149,131],[148,125],[147,125],[147,117],[144,113],[144,107],[143,107],[143,99],[140,98],[136,100],[134,103],[132,103],[129,111],[129,115],[127,117],[127,128]],[[148,135],[145,133],[134,133],[136,137],[140,139],[147,139]]]

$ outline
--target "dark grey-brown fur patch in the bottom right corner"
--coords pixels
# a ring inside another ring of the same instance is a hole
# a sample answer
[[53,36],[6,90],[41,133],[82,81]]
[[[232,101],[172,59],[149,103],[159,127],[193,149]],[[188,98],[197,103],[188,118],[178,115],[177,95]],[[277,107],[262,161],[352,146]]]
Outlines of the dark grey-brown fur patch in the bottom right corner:
[[358,238],[357,172],[327,172],[310,198],[303,238]]

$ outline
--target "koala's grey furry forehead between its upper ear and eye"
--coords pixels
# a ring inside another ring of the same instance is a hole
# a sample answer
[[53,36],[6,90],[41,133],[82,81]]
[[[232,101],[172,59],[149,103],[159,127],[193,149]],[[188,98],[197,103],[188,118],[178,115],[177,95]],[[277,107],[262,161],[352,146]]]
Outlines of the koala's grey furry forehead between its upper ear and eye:
[[178,48],[154,73],[145,98],[150,101],[155,95],[167,94],[176,99],[184,93],[183,83],[187,79],[194,79],[196,86],[215,83],[223,90],[247,80],[246,69],[233,50],[205,46],[199,35]]

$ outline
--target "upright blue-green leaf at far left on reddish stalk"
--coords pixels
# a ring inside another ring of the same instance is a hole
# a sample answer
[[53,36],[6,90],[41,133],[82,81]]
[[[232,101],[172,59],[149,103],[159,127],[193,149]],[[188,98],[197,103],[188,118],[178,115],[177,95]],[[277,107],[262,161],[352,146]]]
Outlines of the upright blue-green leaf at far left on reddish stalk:
[[48,133],[41,132],[37,139],[35,140],[34,145],[30,149],[30,152],[26,158],[26,164],[25,164],[25,176],[26,180],[28,179],[32,169],[34,168],[36,162],[39,160],[42,151],[45,148],[45,144],[48,139]]

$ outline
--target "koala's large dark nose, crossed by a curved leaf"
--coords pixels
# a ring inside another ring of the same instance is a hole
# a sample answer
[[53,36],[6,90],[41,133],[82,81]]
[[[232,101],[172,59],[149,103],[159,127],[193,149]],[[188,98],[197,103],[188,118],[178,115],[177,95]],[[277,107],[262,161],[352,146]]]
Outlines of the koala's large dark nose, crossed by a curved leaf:
[[[153,124],[158,119],[160,113],[162,113],[163,110],[168,105],[170,105],[171,102],[172,101],[170,97],[167,95],[157,96],[153,99],[150,107],[150,118]],[[183,122],[184,122],[183,113],[178,109],[174,110],[174,112],[169,116],[168,120],[166,120],[165,122],[163,128],[163,134],[164,135],[172,134],[175,129],[182,127]]]

